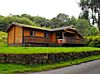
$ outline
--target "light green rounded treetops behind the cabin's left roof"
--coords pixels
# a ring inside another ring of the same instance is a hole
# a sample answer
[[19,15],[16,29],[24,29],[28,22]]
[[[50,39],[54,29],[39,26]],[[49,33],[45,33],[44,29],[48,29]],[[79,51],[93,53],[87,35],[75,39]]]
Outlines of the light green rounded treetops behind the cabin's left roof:
[[37,26],[37,24],[35,24],[31,20],[29,20],[28,18],[25,18],[25,17],[20,18],[20,17],[15,17],[15,16],[7,16],[7,17],[2,17],[0,19],[0,31],[6,31],[7,27],[12,22],[17,22],[17,23]]

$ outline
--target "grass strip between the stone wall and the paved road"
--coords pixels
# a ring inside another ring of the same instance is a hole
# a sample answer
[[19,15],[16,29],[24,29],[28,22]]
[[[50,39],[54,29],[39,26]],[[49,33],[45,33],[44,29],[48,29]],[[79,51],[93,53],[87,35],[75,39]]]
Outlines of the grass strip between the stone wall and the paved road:
[[100,55],[98,56],[90,56],[82,59],[76,59],[73,61],[60,62],[55,64],[45,64],[45,65],[16,65],[16,64],[0,64],[0,74],[14,74],[18,72],[38,72],[45,71],[51,69],[57,69],[61,67],[71,66],[74,64],[80,64],[82,62],[87,62],[91,60],[100,59]]

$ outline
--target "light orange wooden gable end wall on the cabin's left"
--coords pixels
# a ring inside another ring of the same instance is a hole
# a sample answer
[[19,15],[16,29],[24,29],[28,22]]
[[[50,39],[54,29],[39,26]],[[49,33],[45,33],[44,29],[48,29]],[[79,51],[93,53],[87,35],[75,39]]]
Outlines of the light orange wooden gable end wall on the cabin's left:
[[8,31],[8,45],[19,46],[22,45],[22,27],[12,26]]

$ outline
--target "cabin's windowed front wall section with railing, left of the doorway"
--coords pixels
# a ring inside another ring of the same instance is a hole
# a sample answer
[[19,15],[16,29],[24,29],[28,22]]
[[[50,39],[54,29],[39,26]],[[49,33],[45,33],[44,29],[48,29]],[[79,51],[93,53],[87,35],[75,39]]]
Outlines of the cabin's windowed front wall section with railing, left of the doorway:
[[[48,35],[47,37],[45,36],[46,33]],[[24,39],[24,43],[26,44],[49,43],[50,33],[48,31],[43,31],[43,30],[38,30],[38,29],[24,28],[23,39]]]

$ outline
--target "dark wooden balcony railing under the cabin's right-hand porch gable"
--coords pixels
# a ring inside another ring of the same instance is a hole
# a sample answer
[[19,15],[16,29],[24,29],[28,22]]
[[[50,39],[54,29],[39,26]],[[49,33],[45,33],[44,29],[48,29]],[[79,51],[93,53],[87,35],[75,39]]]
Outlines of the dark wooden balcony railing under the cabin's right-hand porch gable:
[[85,40],[84,39],[74,38],[74,37],[64,37],[64,43],[68,43],[68,44],[84,44]]

